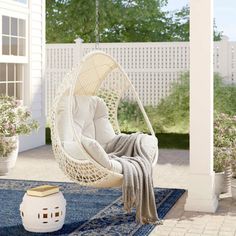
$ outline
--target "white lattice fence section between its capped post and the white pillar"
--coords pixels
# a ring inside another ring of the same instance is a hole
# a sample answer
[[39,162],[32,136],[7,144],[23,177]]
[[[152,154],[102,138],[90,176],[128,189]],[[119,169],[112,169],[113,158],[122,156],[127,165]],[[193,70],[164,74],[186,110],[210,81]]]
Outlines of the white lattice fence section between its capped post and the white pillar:
[[[121,64],[144,105],[157,105],[189,68],[188,43],[102,43],[99,49]],[[83,56],[92,50],[94,45],[82,45]],[[126,97],[132,99],[129,92]]]

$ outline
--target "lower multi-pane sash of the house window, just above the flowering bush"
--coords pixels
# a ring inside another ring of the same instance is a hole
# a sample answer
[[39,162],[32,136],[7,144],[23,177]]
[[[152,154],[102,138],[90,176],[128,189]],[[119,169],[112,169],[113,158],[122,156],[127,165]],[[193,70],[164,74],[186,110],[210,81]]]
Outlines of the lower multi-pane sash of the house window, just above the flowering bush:
[[0,94],[23,100],[25,66],[16,63],[0,63]]

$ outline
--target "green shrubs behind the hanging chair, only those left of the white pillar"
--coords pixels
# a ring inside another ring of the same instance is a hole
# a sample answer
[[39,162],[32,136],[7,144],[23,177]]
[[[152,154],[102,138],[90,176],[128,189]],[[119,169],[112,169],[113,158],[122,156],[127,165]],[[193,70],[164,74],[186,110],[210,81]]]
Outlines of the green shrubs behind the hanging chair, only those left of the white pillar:
[[[172,93],[157,107],[145,110],[156,133],[188,133],[189,126],[189,76],[184,74],[181,82],[173,83]],[[121,101],[118,120],[123,132],[148,132],[138,104]]]

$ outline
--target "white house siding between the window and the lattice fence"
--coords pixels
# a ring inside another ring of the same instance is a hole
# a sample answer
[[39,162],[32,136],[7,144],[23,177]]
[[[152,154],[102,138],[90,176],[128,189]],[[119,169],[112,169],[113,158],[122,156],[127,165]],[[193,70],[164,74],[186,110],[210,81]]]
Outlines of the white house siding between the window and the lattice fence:
[[21,137],[20,151],[45,144],[44,48],[45,0],[29,1],[29,76],[26,104],[40,123],[38,132]]

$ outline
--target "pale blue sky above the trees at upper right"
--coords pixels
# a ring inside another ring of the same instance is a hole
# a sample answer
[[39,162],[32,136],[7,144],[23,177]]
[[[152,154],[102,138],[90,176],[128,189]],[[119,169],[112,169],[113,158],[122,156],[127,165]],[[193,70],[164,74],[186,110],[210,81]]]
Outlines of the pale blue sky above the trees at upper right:
[[[181,9],[188,3],[189,0],[168,0],[165,9]],[[236,0],[214,0],[214,18],[217,29],[223,31],[230,41],[236,41]]]

